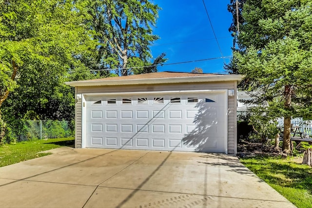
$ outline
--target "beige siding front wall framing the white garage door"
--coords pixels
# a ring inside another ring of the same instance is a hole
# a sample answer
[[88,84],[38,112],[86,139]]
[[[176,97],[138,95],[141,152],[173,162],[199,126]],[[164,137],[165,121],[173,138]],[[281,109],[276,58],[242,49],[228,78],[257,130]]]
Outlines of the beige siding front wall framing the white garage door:
[[[236,153],[236,81],[207,82],[207,83],[182,83],[158,85],[120,85],[120,86],[87,86],[77,87],[76,94],[101,94],[101,93],[138,93],[138,92],[166,92],[188,90],[229,90],[234,89],[234,96],[228,96],[228,153]],[[76,103],[76,140],[75,147],[81,148],[81,99]]]

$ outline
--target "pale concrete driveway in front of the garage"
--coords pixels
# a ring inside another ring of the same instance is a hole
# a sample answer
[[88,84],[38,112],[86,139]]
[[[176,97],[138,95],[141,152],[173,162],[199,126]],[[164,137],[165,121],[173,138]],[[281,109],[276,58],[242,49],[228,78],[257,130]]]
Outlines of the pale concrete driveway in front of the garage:
[[59,148],[0,168],[0,207],[294,207],[235,156]]

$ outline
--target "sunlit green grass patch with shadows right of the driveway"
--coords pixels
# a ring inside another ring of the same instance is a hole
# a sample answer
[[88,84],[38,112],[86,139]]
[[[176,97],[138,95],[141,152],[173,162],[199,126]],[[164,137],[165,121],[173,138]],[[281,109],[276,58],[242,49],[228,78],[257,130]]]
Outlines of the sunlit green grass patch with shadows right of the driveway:
[[312,168],[293,158],[253,157],[240,160],[248,169],[298,208],[312,207]]

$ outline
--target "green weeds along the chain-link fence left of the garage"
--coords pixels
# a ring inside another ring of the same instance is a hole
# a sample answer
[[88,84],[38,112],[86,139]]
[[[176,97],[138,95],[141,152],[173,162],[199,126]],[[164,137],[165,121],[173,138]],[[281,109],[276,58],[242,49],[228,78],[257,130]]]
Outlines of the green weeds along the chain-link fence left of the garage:
[[68,121],[20,121],[18,127],[6,132],[5,143],[36,139],[61,138],[73,135]]

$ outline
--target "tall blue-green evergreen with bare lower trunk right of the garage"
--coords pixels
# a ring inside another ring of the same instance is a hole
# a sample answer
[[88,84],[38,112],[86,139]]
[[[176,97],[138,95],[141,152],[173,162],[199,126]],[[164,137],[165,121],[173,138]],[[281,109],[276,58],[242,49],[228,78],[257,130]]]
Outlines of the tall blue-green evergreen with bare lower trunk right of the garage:
[[242,88],[251,92],[254,109],[284,117],[283,150],[289,152],[291,117],[312,113],[312,2],[242,2],[241,19],[230,28],[237,43],[232,65],[245,75]]

